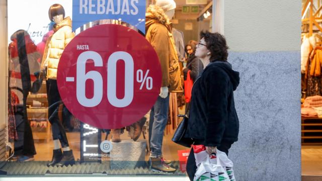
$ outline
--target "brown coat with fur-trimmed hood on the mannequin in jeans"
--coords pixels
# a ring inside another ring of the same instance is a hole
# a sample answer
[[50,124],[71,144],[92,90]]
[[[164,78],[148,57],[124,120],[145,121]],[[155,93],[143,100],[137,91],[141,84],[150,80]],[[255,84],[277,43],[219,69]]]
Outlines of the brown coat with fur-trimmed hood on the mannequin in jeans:
[[146,12],[145,38],[151,43],[159,58],[162,69],[162,86],[169,92],[183,92],[181,73],[172,25],[164,11],[150,5]]

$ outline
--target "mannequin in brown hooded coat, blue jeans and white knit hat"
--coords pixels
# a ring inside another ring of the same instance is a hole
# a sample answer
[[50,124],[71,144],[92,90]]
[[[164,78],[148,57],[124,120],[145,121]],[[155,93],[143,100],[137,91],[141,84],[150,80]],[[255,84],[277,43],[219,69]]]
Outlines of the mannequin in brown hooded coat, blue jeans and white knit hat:
[[150,5],[146,12],[145,30],[148,42],[153,46],[161,65],[162,87],[160,94],[150,112],[149,145],[150,168],[174,172],[162,155],[164,130],[168,122],[169,93],[183,91],[181,84],[180,66],[175,41],[172,36],[170,19],[175,14],[176,3],[173,0],[157,0]]

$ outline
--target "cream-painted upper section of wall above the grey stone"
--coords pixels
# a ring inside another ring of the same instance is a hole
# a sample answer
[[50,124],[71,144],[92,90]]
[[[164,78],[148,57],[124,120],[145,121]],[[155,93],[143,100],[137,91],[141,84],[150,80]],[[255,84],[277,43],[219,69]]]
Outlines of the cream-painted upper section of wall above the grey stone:
[[301,1],[224,0],[224,34],[232,51],[300,50]]

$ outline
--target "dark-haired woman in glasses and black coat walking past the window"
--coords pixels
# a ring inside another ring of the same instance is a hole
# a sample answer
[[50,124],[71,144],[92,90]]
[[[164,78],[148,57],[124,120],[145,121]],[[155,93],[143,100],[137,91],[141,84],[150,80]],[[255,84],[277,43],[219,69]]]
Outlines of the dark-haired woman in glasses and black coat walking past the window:
[[[184,137],[194,145],[205,145],[208,154],[216,149],[228,155],[231,144],[237,141],[238,117],[233,91],[239,84],[239,72],[227,62],[228,47],[219,33],[201,32],[196,57],[203,64],[203,72],[192,88],[191,107]],[[193,180],[197,166],[191,149],[187,173]]]

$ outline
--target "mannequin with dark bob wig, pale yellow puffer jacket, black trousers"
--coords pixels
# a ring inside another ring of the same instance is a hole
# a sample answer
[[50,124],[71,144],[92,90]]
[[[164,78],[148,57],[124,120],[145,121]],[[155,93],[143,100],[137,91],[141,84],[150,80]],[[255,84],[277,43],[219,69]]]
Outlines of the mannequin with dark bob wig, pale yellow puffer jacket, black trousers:
[[63,166],[74,164],[75,161],[72,150],[69,148],[65,129],[58,118],[58,108],[62,102],[58,93],[56,76],[60,56],[75,35],[71,31],[71,20],[69,17],[65,18],[65,10],[61,5],[52,5],[49,8],[48,15],[50,21],[55,23],[54,33],[46,42],[40,69],[40,77],[46,77],[48,120],[52,125],[54,143],[52,160],[47,166]]

